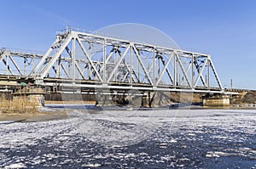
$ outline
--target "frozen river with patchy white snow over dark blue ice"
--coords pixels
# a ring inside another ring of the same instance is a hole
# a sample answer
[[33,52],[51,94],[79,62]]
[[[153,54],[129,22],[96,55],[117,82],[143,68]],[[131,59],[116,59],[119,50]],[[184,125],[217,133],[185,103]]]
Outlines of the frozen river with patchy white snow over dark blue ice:
[[2,121],[0,167],[256,168],[256,110],[68,107],[61,120]]

